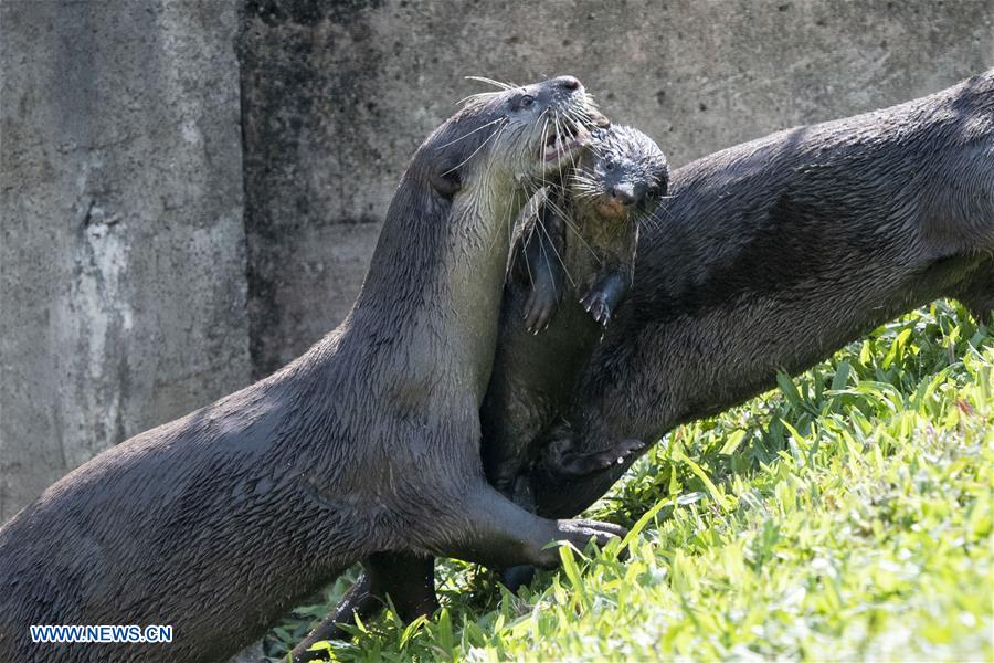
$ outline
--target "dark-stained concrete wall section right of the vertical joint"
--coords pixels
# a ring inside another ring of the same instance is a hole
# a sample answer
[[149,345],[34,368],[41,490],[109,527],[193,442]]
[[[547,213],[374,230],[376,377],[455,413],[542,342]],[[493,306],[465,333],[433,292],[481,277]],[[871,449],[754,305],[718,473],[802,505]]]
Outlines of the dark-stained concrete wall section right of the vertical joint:
[[[675,165],[994,66],[994,0],[260,2],[245,18],[253,365],[347,313],[398,177],[486,75],[578,75]],[[306,103],[295,91],[306,91]]]

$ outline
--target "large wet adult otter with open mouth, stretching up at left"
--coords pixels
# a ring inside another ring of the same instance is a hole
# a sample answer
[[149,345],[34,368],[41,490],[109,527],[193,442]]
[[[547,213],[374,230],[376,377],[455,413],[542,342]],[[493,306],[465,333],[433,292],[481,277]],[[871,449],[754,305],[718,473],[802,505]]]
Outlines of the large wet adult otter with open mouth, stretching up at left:
[[[554,566],[553,540],[620,534],[517,507],[478,452],[520,178],[579,147],[543,120],[581,133],[593,113],[571,76],[469,99],[414,155],[338,329],[104,452],[4,525],[0,660],[222,660],[363,558]],[[129,623],[171,624],[173,642],[33,644],[28,631]]]

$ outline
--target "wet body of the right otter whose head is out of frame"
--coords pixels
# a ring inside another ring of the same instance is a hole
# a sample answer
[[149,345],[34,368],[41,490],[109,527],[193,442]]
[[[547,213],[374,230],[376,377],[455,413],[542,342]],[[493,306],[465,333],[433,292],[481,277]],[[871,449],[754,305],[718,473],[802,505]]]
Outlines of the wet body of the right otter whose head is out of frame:
[[[994,70],[885,110],[799,127],[678,169],[594,350],[553,464],[658,440],[943,296],[994,304]],[[631,464],[544,465],[539,513],[583,511]]]

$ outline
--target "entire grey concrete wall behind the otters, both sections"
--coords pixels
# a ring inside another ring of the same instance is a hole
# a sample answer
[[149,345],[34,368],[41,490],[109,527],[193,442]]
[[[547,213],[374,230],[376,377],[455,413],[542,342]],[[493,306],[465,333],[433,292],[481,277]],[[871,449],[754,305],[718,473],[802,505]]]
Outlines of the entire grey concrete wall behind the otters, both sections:
[[332,328],[466,75],[680,165],[991,66],[994,0],[0,0],[0,520]]

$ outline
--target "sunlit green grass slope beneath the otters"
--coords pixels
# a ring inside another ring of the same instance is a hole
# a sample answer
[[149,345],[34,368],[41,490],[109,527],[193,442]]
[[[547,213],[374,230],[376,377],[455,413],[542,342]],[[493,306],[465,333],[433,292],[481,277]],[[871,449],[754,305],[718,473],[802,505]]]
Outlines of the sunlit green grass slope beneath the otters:
[[[387,614],[331,651],[992,660],[992,431],[994,328],[939,302],[667,435],[588,512],[635,527],[626,561],[563,549],[563,569],[518,596],[445,562],[441,613]],[[288,621],[269,650],[308,625]]]

